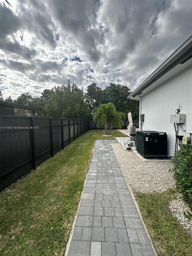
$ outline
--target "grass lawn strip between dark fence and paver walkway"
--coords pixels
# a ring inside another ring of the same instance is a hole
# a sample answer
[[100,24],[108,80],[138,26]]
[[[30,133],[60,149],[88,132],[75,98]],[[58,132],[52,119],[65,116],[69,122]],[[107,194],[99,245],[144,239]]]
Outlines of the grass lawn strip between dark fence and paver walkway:
[[[116,133],[116,134],[115,134]],[[0,193],[0,255],[60,255],[69,238],[95,140],[88,131]]]

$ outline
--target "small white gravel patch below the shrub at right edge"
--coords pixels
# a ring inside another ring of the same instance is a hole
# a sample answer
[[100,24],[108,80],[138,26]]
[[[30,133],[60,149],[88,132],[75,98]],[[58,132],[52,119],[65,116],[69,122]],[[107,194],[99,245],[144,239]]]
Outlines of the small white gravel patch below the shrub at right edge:
[[187,211],[192,214],[190,208],[182,200],[182,194],[177,194],[178,199],[170,202],[168,209],[173,214],[173,216],[178,220],[178,222],[184,227],[187,232],[192,237],[192,218],[188,219],[184,216],[184,212],[187,214]]

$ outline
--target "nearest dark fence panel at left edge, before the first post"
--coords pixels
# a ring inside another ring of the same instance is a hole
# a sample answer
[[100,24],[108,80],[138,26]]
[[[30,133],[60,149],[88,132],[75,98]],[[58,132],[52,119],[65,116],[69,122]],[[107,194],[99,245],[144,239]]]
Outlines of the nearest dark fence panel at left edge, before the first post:
[[0,116],[0,191],[32,169],[29,117]]

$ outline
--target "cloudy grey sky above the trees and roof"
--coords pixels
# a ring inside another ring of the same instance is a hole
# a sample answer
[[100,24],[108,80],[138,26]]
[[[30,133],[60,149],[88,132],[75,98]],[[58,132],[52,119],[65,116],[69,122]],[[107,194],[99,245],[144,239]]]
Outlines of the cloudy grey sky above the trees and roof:
[[191,0],[0,0],[0,90],[137,88],[192,34]]

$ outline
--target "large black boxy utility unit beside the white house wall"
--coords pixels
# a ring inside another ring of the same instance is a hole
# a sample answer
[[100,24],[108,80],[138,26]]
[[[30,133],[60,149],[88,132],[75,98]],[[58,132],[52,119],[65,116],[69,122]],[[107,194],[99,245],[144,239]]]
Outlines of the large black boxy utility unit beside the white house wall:
[[137,131],[136,149],[144,158],[167,158],[166,132]]

